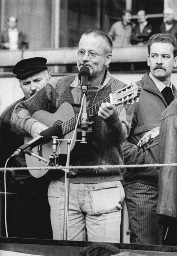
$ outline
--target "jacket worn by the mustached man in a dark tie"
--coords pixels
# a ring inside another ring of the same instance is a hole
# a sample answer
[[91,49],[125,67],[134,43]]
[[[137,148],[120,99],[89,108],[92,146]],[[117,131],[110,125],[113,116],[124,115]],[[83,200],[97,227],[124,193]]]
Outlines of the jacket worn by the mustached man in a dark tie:
[[[139,102],[135,103],[130,136],[123,145],[125,164],[153,164],[159,162],[159,136],[150,140],[142,148],[137,146],[138,141],[149,130],[158,127],[161,113],[167,104],[159,89],[146,73],[142,80],[137,82],[141,87]],[[174,97],[177,90],[173,86]],[[144,184],[158,185],[156,168],[127,168],[124,173],[125,184],[141,182]]]

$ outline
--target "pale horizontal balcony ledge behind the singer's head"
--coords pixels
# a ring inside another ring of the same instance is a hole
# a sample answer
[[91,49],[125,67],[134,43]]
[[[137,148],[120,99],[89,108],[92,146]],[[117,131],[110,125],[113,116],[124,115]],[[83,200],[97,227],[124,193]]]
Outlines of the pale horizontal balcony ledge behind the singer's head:
[[[14,66],[18,61],[33,57],[44,57],[47,65],[76,65],[77,48],[44,49],[37,51],[0,51],[0,67]],[[113,49],[112,62],[145,62],[146,46],[129,46]]]

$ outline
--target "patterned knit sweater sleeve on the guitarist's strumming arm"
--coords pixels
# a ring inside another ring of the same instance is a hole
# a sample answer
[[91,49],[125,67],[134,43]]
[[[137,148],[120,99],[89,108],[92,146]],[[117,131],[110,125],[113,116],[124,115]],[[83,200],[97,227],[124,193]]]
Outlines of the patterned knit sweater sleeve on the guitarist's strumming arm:
[[33,123],[37,121],[32,118],[32,114],[41,109],[47,110],[51,97],[50,87],[48,84],[30,99],[16,105],[11,117],[11,126],[18,135],[29,136]]

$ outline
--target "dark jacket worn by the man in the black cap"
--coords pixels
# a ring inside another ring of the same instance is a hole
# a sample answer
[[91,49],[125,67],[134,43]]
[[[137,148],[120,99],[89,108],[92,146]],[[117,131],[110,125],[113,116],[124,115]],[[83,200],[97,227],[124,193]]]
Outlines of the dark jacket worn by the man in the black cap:
[[[24,144],[24,137],[19,136],[13,131],[10,119],[12,116],[13,109],[17,103],[25,101],[26,98],[22,98],[15,103],[8,106],[0,116],[0,167],[4,167],[8,157],[15,151],[19,146]],[[32,161],[32,158],[31,158]],[[7,167],[26,167],[26,161],[24,156],[18,156],[8,161]],[[0,172],[0,182],[3,184],[3,173]],[[16,170],[7,174],[7,190],[8,191],[24,191],[38,194],[47,193],[49,180],[46,177],[36,179],[31,176],[28,170],[21,171]]]

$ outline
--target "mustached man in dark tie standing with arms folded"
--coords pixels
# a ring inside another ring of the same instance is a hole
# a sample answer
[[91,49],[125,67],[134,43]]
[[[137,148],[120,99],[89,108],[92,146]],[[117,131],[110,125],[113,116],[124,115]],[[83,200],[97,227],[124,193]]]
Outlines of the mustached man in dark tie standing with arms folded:
[[[157,131],[160,116],[177,97],[177,90],[170,82],[173,67],[177,66],[175,37],[170,34],[155,34],[150,37],[148,66],[150,74],[146,73],[142,80],[137,82],[141,87],[139,102],[135,103],[130,136],[122,145],[125,164],[153,164],[159,161]],[[157,129],[156,133],[152,131],[154,128]],[[155,138],[149,140],[152,134]],[[142,142],[138,146],[141,139]],[[124,173],[124,190],[131,227],[130,242],[160,245],[162,226],[158,224],[156,215],[157,169],[127,168]]]

